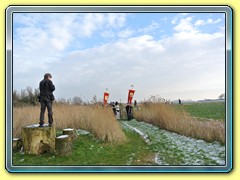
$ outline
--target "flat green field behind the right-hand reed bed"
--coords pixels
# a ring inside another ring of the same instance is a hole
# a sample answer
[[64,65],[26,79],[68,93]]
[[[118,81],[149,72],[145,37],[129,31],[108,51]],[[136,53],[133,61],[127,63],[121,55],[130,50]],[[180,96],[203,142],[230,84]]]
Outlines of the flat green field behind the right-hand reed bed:
[[194,117],[225,120],[225,103],[192,103],[176,107],[187,111]]

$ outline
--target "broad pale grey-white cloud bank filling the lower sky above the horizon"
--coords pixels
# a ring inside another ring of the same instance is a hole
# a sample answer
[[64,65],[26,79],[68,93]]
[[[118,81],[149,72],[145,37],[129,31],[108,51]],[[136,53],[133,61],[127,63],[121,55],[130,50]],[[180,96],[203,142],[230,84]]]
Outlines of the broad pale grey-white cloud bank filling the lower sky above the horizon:
[[102,97],[108,87],[110,100],[125,101],[135,84],[137,99],[153,94],[198,99],[205,96],[190,92],[224,90],[224,59],[223,35],[196,33],[186,41],[176,33],[161,41],[144,35],[76,51],[46,70],[54,76],[56,97]]

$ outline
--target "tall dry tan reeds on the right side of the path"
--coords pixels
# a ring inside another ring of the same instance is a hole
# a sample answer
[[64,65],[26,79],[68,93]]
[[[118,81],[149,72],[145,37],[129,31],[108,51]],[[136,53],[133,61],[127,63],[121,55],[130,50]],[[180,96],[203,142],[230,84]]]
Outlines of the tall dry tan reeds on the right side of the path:
[[154,124],[161,129],[203,139],[207,142],[225,143],[225,123],[223,121],[197,120],[170,104],[145,103],[141,106],[141,111],[136,111],[134,116],[139,121]]

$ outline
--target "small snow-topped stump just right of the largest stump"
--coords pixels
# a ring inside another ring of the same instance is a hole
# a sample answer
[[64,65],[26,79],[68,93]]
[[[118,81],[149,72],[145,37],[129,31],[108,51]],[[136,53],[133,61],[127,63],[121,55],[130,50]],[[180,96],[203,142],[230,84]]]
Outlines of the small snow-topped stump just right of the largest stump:
[[72,140],[69,135],[61,135],[56,137],[56,154],[58,156],[68,156],[72,152]]

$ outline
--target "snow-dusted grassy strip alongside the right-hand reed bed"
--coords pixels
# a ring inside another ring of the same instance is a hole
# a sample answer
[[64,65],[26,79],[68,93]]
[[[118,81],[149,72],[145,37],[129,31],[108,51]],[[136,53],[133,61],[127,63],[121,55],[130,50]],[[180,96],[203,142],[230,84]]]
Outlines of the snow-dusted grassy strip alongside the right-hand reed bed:
[[218,142],[207,143],[136,120],[122,124],[124,129],[147,137],[159,165],[225,165],[225,146]]

